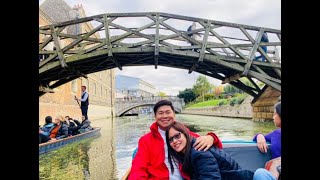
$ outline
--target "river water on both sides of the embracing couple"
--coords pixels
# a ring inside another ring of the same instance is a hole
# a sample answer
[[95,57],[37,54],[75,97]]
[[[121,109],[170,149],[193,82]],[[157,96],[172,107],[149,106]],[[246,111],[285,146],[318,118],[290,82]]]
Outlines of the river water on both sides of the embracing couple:
[[[177,114],[176,118],[191,131],[201,135],[215,132],[222,141],[252,140],[256,133],[268,133],[275,128],[273,122],[241,118],[185,114]],[[39,155],[39,178],[121,179],[131,165],[139,138],[149,132],[153,122],[152,114],[93,120],[94,127],[102,127],[99,136]]]

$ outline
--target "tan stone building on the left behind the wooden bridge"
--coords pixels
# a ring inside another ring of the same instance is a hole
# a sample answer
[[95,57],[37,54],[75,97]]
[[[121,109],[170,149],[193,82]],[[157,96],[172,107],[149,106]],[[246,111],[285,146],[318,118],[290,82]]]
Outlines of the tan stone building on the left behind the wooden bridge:
[[[63,0],[45,0],[39,7],[39,26],[86,17],[82,5],[71,8]],[[91,31],[91,23],[82,23],[81,26],[73,26],[66,31],[77,34]],[[99,38],[99,34],[94,36]],[[39,37],[39,42],[43,37]],[[70,40],[61,40],[62,47],[69,44]],[[53,45],[47,45],[52,50]],[[54,93],[47,93],[39,98],[39,124],[44,124],[47,115],[53,118],[61,114],[81,119],[81,110],[74,99],[81,96],[81,86],[87,86],[89,93],[88,117],[92,119],[110,117],[114,114],[115,98],[115,70],[104,70],[97,73],[88,74],[86,78],[78,78],[54,89]]]

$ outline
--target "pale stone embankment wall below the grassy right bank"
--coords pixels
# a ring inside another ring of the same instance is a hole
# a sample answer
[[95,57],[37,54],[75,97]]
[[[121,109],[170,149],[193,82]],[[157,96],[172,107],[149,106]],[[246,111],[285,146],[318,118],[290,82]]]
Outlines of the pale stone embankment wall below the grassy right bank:
[[196,115],[207,115],[207,116],[221,116],[221,117],[233,117],[233,118],[253,118],[253,110],[251,101],[253,97],[248,96],[241,104],[234,106],[222,105],[222,106],[211,106],[202,108],[187,108],[183,109],[181,114],[196,114]]

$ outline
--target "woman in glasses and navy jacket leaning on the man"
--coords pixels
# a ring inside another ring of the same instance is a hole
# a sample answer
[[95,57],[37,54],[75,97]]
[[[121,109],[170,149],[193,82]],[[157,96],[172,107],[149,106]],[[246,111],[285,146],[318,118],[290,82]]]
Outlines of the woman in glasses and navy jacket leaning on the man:
[[242,169],[222,149],[212,146],[208,151],[197,151],[192,148],[196,139],[180,122],[168,126],[166,141],[171,171],[174,173],[174,166],[182,167],[186,179],[251,180],[253,177],[252,171]]

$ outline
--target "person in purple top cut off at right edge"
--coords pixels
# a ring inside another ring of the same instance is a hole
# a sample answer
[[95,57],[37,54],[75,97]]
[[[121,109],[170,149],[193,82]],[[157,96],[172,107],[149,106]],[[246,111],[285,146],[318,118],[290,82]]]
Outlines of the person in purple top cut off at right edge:
[[[268,151],[266,142],[271,144],[272,160],[266,163],[265,168],[259,168],[255,171],[253,180],[276,180],[281,176],[281,102],[274,105],[273,122],[277,127],[267,135],[258,133],[253,140],[257,142],[258,149],[262,153]],[[270,165],[269,165],[270,164]],[[280,169],[280,170],[279,170]]]

